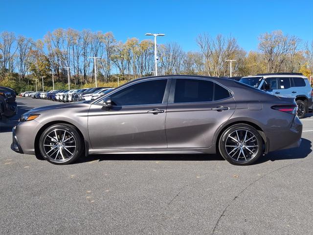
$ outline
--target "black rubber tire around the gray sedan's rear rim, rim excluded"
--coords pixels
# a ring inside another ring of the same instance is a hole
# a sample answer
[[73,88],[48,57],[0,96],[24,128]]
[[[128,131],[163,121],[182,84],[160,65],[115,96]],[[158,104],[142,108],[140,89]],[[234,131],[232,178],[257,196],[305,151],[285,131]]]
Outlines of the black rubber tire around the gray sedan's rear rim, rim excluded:
[[[249,162],[245,162],[245,163],[241,163],[241,162],[237,162],[235,160],[233,160],[226,152],[226,148],[225,148],[225,142],[227,139],[227,136],[229,133],[234,132],[235,130],[247,130],[249,132],[251,132],[253,135],[255,135],[259,148],[258,148],[258,152],[256,154],[256,156],[251,159]],[[257,161],[259,159],[259,157],[262,155],[263,152],[263,139],[260,135],[260,133],[252,126],[247,125],[247,124],[235,124],[233,126],[228,127],[223,134],[221,135],[220,141],[219,141],[219,150],[220,153],[222,155],[222,157],[229,162],[230,164],[234,164],[234,165],[250,165],[253,164],[255,161]]]

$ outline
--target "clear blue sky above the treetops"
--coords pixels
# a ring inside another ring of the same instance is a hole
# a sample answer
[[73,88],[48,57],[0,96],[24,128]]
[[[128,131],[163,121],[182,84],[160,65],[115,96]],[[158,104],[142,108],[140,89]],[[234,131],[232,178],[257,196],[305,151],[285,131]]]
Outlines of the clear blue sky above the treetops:
[[241,47],[256,50],[258,36],[282,30],[313,40],[313,0],[2,0],[1,31],[42,39],[56,28],[112,31],[117,40],[146,39],[165,33],[158,43],[178,42],[198,50],[195,39],[234,36]]

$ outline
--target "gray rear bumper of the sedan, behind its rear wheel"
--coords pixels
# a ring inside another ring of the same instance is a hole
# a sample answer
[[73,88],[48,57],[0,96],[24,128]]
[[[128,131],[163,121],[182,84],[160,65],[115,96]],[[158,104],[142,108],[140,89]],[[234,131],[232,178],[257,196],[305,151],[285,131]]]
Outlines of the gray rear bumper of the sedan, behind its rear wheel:
[[264,132],[268,142],[267,152],[296,148],[301,144],[302,123],[295,116],[290,128],[267,128]]

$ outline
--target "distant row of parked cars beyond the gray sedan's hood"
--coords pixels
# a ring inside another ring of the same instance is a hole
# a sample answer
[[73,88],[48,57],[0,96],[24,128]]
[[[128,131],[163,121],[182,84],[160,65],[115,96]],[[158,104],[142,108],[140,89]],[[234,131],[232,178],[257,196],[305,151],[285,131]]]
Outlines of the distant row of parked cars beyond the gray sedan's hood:
[[32,97],[34,99],[49,99],[59,102],[74,102],[96,99],[101,95],[110,92],[112,89],[113,88],[111,87],[95,87],[73,90],[54,90],[47,92],[27,91],[21,93],[20,95],[23,97]]

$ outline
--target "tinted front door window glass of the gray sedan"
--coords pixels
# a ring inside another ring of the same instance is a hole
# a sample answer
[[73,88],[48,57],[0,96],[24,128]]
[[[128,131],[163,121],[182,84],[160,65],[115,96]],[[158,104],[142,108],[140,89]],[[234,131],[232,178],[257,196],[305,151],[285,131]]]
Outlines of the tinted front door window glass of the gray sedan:
[[167,79],[139,82],[114,94],[111,100],[114,106],[161,104]]

